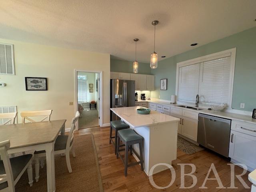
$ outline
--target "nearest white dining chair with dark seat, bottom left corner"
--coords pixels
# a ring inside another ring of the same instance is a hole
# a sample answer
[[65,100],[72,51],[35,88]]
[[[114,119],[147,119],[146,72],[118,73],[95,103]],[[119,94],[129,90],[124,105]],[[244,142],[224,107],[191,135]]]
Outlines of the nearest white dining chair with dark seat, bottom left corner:
[[27,170],[29,184],[33,185],[32,154],[9,158],[10,140],[0,142],[0,192],[14,192],[15,185]]

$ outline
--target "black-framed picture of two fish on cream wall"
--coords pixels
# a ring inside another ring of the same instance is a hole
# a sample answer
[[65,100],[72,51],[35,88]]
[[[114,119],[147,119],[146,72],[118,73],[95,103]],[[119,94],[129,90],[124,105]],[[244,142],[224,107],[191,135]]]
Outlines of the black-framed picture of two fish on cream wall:
[[27,91],[47,91],[47,78],[25,77]]

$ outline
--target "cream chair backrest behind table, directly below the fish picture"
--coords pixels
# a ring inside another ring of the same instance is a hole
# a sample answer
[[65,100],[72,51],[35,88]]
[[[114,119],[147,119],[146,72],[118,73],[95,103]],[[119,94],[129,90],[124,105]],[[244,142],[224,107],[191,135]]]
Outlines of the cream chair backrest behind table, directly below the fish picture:
[[46,120],[47,118],[48,118],[48,121],[50,121],[51,114],[52,114],[52,110],[23,111],[20,113],[20,116],[22,117],[22,123],[25,123],[25,120],[28,120],[29,122],[36,122],[35,120],[32,120],[30,117],[44,116],[42,119],[39,120],[39,122],[41,122]]

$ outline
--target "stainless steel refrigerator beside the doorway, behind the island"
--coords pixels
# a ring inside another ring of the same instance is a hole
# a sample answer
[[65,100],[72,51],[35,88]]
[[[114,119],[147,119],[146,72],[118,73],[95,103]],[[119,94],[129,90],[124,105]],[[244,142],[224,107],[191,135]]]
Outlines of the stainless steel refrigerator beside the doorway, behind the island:
[[[110,108],[135,106],[135,81],[110,80]],[[110,121],[120,120],[110,111]]]

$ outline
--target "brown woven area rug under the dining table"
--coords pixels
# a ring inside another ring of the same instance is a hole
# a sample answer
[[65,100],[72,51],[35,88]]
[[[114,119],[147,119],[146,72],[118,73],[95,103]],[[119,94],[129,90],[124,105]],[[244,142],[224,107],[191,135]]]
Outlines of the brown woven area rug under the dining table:
[[[70,156],[72,173],[68,172],[65,156],[55,156],[56,192],[103,192],[93,135],[75,136],[74,148],[76,157]],[[28,174],[25,172],[16,184],[15,191],[47,192],[46,165],[40,168],[39,181],[34,180],[32,187],[28,184]]]

